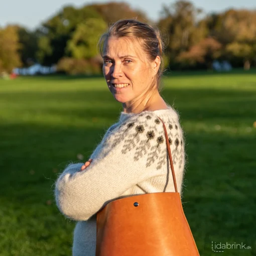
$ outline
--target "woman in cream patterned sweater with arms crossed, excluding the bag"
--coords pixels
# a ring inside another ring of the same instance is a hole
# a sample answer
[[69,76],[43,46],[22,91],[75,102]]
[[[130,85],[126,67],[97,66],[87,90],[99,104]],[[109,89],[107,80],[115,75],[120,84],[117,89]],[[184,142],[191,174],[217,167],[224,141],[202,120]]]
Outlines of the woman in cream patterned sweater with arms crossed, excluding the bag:
[[178,192],[182,190],[183,132],[178,114],[159,93],[163,64],[160,33],[136,20],[120,20],[102,35],[99,46],[107,86],[123,111],[89,161],[70,164],[56,182],[60,211],[78,221],[73,256],[95,255],[96,213],[110,201],[174,192],[172,176],[167,177],[170,163],[158,116],[167,128]]

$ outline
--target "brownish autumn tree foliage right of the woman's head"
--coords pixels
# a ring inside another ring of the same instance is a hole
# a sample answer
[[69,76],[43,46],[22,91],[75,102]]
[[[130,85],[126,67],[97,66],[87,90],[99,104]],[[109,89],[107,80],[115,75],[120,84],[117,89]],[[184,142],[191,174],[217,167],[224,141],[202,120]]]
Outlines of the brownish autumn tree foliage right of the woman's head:
[[[166,52],[172,68],[177,67],[176,62],[183,67],[201,62],[210,68],[215,58],[256,64],[256,11],[228,10],[200,19],[201,12],[187,1],[163,6],[158,25],[168,37]],[[216,42],[222,45],[221,51]]]

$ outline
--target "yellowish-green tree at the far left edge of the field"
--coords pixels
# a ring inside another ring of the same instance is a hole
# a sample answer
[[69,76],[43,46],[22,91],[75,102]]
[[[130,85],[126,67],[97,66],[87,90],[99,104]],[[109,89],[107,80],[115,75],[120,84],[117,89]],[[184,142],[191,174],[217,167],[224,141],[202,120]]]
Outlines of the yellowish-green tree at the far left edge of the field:
[[0,71],[12,72],[21,65],[20,45],[16,26],[0,28]]

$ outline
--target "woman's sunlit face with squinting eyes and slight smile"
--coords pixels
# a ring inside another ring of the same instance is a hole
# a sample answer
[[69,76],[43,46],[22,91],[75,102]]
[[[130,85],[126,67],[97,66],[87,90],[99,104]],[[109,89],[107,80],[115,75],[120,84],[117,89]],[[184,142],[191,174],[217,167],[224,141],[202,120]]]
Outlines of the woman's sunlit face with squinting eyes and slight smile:
[[[129,38],[110,37],[105,43],[103,61],[108,88],[122,103],[133,102],[144,95],[159,68],[147,59],[140,43]],[[116,88],[116,85],[124,87]]]

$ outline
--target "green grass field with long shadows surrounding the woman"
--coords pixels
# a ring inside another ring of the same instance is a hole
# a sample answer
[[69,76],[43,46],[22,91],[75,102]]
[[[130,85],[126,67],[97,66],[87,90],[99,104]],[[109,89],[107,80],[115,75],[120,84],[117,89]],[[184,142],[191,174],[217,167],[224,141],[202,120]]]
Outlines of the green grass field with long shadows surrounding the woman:
[[[183,207],[200,255],[256,255],[256,72],[163,81],[185,133]],[[75,222],[55,206],[54,181],[121,110],[100,77],[0,80],[1,256],[71,255]],[[251,248],[213,251],[219,243]]]

